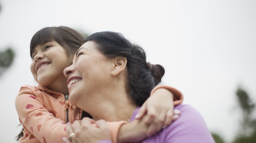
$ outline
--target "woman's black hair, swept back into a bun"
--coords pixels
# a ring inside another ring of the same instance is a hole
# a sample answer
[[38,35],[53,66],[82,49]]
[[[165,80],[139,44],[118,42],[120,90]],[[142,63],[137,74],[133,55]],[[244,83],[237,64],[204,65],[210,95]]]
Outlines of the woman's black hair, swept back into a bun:
[[150,96],[151,90],[161,82],[164,68],[146,61],[145,51],[131,43],[121,33],[104,31],[90,35],[84,42],[93,41],[106,57],[123,56],[127,59],[128,82],[131,99],[141,106]]

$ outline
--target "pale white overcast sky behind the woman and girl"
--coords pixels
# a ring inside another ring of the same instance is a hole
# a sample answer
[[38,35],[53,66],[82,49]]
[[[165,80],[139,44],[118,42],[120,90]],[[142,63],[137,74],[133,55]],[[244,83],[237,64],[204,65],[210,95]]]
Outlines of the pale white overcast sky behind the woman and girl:
[[22,85],[36,85],[30,40],[48,26],[116,31],[137,42],[149,62],[164,66],[163,83],[181,90],[184,103],[227,142],[241,117],[238,85],[256,101],[254,0],[0,0],[0,5],[0,52],[11,46],[16,53],[0,77],[0,143],[15,142],[21,130],[14,100]]

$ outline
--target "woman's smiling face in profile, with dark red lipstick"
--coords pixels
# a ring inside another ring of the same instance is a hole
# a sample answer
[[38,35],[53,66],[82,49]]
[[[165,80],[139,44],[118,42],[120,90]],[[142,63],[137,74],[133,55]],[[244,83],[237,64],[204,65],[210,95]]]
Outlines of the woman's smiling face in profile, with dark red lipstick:
[[93,41],[88,41],[79,48],[73,58],[73,64],[64,70],[68,78],[70,103],[78,107],[95,103],[93,100],[99,97],[94,95],[109,85],[113,65],[111,61],[96,49]]

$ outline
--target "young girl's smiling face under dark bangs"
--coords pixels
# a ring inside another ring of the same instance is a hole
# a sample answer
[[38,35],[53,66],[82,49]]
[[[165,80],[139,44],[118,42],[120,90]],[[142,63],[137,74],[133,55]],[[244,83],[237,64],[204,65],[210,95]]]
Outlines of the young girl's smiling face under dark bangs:
[[32,59],[30,70],[40,85],[54,90],[54,86],[67,81],[63,70],[71,65],[71,58],[57,42],[50,41],[35,47]]

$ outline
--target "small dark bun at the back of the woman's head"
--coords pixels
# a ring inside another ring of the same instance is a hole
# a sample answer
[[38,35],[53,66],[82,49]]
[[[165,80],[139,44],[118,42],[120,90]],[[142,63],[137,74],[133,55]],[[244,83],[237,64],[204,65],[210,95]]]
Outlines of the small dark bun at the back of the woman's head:
[[149,68],[151,75],[154,77],[155,85],[158,85],[161,82],[161,79],[165,72],[163,66],[159,64],[154,65],[154,64],[151,64],[150,62],[147,62],[147,66]]

